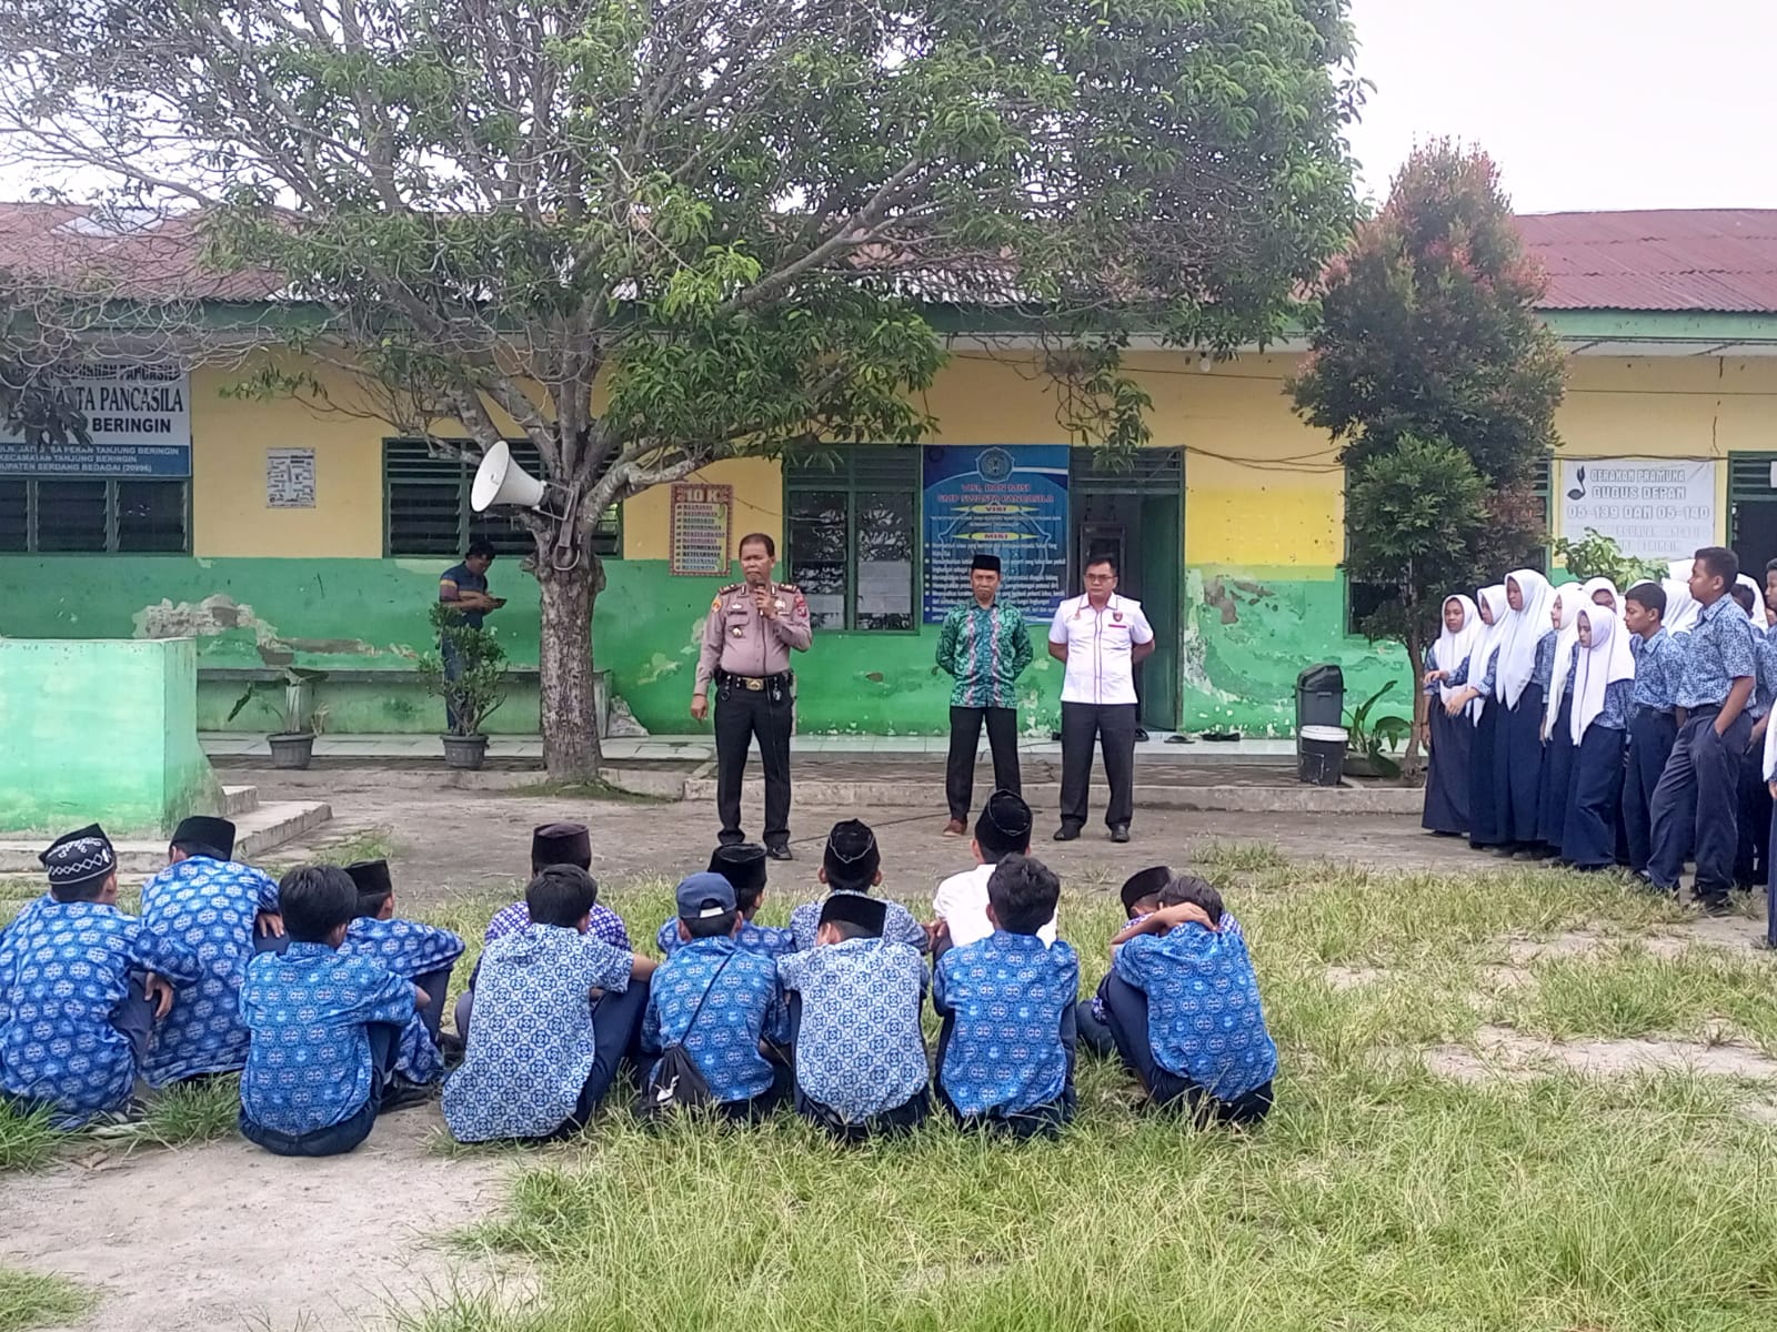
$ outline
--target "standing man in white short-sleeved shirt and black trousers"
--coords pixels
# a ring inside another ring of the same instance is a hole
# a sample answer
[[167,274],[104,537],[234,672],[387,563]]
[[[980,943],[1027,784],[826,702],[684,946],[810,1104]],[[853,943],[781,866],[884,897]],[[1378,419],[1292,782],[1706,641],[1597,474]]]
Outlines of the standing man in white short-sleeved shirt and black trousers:
[[1086,595],[1063,602],[1048,627],[1048,655],[1068,671],[1061,682],[1061,828],[1072,842],[1086,826],[1093,741],[1105,751],[1112,842],[1128,842],[1136,810],[1136,662],[1153,652],[1153,627],[1141,602],[1116,595],[1116,559],[1089,556]]

